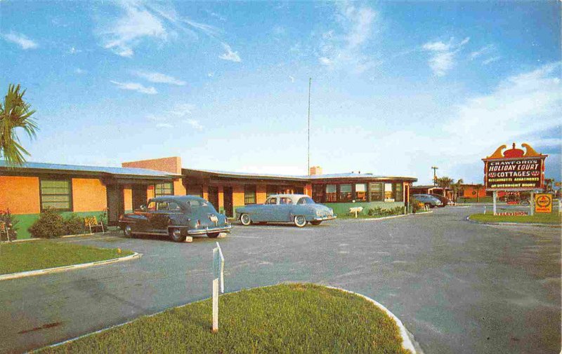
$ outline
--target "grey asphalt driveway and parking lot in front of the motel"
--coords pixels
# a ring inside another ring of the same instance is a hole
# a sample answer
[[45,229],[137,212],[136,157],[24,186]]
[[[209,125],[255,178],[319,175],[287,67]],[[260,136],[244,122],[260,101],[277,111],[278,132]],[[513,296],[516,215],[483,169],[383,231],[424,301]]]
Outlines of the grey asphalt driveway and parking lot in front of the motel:
[[107,234],[65,239],[143,257],[0,282],[0,352],[20,353],[209,297],[218,241],[226,292],[285,281],[333,285],[386,306],[425,353],[558,353],[560,229],[467,222],[476,210],[446,207],[304,229],[236,226],[226,238],[181,244]]

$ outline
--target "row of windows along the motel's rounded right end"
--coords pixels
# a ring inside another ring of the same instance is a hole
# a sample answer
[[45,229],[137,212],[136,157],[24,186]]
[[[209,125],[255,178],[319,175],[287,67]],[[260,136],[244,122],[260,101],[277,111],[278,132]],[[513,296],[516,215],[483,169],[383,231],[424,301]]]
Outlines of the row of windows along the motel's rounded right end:
[[367,201],[404,201],[401,182],[313,184],[312,197],[317,203],[348,203]]

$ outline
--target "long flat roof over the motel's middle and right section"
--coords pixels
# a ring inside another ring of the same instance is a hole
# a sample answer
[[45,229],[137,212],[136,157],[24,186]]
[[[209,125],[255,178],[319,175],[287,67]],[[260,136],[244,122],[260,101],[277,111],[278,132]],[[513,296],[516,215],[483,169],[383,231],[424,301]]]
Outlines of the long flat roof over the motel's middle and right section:
[[381,176],[373,175],[372,173],[334,173],[328,175],[274,175],[263,173],[250,173],[250,172],[228,172],[220,170],[196,170],[194,168],[183,168],[184,174],[190,173],[207,173],[209,175],[216,175],[216,177],[226,178],[254,178],[254,179],[291,179],[294,181],[308,182],[318,179],[405,179],[412,182],[417,181],[415,177],[400,177],[400,176]]

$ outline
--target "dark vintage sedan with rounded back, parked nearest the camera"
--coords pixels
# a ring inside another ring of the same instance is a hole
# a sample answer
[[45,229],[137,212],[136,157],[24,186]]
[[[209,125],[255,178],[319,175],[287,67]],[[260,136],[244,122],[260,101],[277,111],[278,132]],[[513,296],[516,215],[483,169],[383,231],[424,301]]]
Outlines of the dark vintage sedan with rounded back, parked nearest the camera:
[[226,215],[219,214],[207,200],[196,196],[161,196],[148,205],[119,217],[125,236],[136,234],[168,236],[176,242],[186,236],[207,235],[215,238],[230,232]]

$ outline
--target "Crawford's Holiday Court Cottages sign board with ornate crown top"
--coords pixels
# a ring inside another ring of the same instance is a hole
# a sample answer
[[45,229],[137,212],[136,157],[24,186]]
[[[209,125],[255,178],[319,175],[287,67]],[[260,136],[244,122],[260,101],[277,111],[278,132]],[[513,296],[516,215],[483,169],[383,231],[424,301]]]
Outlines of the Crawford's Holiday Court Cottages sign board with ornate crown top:
[[[484,182],[488,190],[525,191],[542,189],[544,186],[544,159],[548,155],[537,153],[530,145],[504,151],[506,145],[497,148],[492,156],[483,158]],[[503,153],[502,153],[503,151]]]

